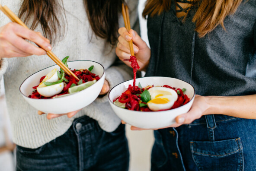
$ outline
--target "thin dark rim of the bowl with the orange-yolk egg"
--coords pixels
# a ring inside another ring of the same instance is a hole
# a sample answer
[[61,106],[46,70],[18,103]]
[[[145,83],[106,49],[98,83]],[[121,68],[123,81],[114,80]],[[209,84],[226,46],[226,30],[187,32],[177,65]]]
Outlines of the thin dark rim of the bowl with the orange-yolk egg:
[[[141,78],[172,78],[172,79],[177,79],[177,78],[173,78],[173,77],[167,77],[167,76],[144,76],[144,77],[141,77]],[[138,79],[141,79],[141,78],[138,78]],[[130,80],[127,80],[127,81],[124,81],[124,82],[128,82],[128,81],[131,81],[131,80],[133,80],[133,79],[130,79]],[[183,81],[182,79],[178,79],[178,80],[180,80],[180,81]],[[136,78],[136,81],[137,81],[137,78]],[[120,85],[120,84],[122,84],[122,83],[124,83],[124,82],[121,82],[121,83],[119,83],[119,84],[117,84],[117,85],[115,85],[110,91],[109,91],[109,95],[110,95],[110,93],[111,93],[111,91],[116,87],[116,86],[118,86],[118,85]],[[186,81],[183,81],[183,82],[186,82]],[[193,98],[195,98],[195,88],[194,88],[194,86],[192,85],[192,84],[190,84],[189,82],[186,82],[186,83],[188,83],[189,85],[191,85],[192,86],[192,88],[193,88],[193,90],[194,90],[194,95],[192,96],[192,98],[190,99],[190,101],[188,102],[188,103],[186,103],[186,104],[184,104],[184,105],[182,105],[182,106],[186,106],[187,104],[190,104],[190,103],[192,103],[192,99]],[[113,101],[111,101],[110,100],[110,98],[109,98],[109,101],[113,104],[113,105],[115,105],[114,104],[114,102]],[[115,105],[116,106],[116,105]],[[180,106],[180,107],[178,107],[178,108],[175,108],[175,109],[169,109],[169,110],[166,110],[166,111],[176,111],[176,110],[178,110],[179,108],[181,108],[182,106]],[[128,109],[125,109],[125,108],[121,108],[121,107],[119,107],[119,106],[116,106],[116,107],[118,107],[118,108],[120,108],[121,110],[125,110],[125,111],[127,111]],[[128,111],[131,111],[131,110],[128,110]],[[132,112],[134,112],[134,113],[144,113],[144,114],[146,114],[146,113],[148,113],[148,112],[150,112],[150,113],[165,113],[166,111],[132,111]]]

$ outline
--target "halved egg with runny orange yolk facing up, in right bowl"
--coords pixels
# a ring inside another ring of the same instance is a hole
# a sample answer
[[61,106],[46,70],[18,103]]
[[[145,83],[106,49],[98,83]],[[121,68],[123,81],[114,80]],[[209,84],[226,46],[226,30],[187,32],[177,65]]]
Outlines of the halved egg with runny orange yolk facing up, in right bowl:
[[147,102],[147,106],[151,111],[170,109],[178,98],[175,90],[166,87],[152,87],[148,92],[151,100]]

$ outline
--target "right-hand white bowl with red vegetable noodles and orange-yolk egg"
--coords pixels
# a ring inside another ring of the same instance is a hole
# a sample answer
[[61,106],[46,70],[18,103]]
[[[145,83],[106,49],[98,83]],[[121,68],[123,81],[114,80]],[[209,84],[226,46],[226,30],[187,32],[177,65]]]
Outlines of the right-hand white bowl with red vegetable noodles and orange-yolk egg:
[[[120,119],[135,127],[169,126],[178,115],[189,111],[195,98],[194,87],[180,79],[144,77],[136,79],[136,83],[138,85],[132,89],[133,80],[122,82],[109,92],[112,109]],[[135,93],[138,94],[132,95]]]

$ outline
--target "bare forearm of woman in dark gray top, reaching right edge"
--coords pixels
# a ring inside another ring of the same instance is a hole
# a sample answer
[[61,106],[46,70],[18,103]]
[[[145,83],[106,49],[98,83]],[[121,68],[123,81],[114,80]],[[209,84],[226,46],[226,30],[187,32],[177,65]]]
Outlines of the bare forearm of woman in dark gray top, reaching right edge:
[[207,96],[205,114],[224,114],[246,119],[256,119],[256,95],[234,97]]

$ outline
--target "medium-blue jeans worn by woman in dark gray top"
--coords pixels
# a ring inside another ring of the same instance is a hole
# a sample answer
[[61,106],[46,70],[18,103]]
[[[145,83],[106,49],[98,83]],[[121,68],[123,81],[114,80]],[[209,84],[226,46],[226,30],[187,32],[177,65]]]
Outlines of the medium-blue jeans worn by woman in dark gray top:
[[256,120],[206,115],[154,135],[151,171],[256,170]]

